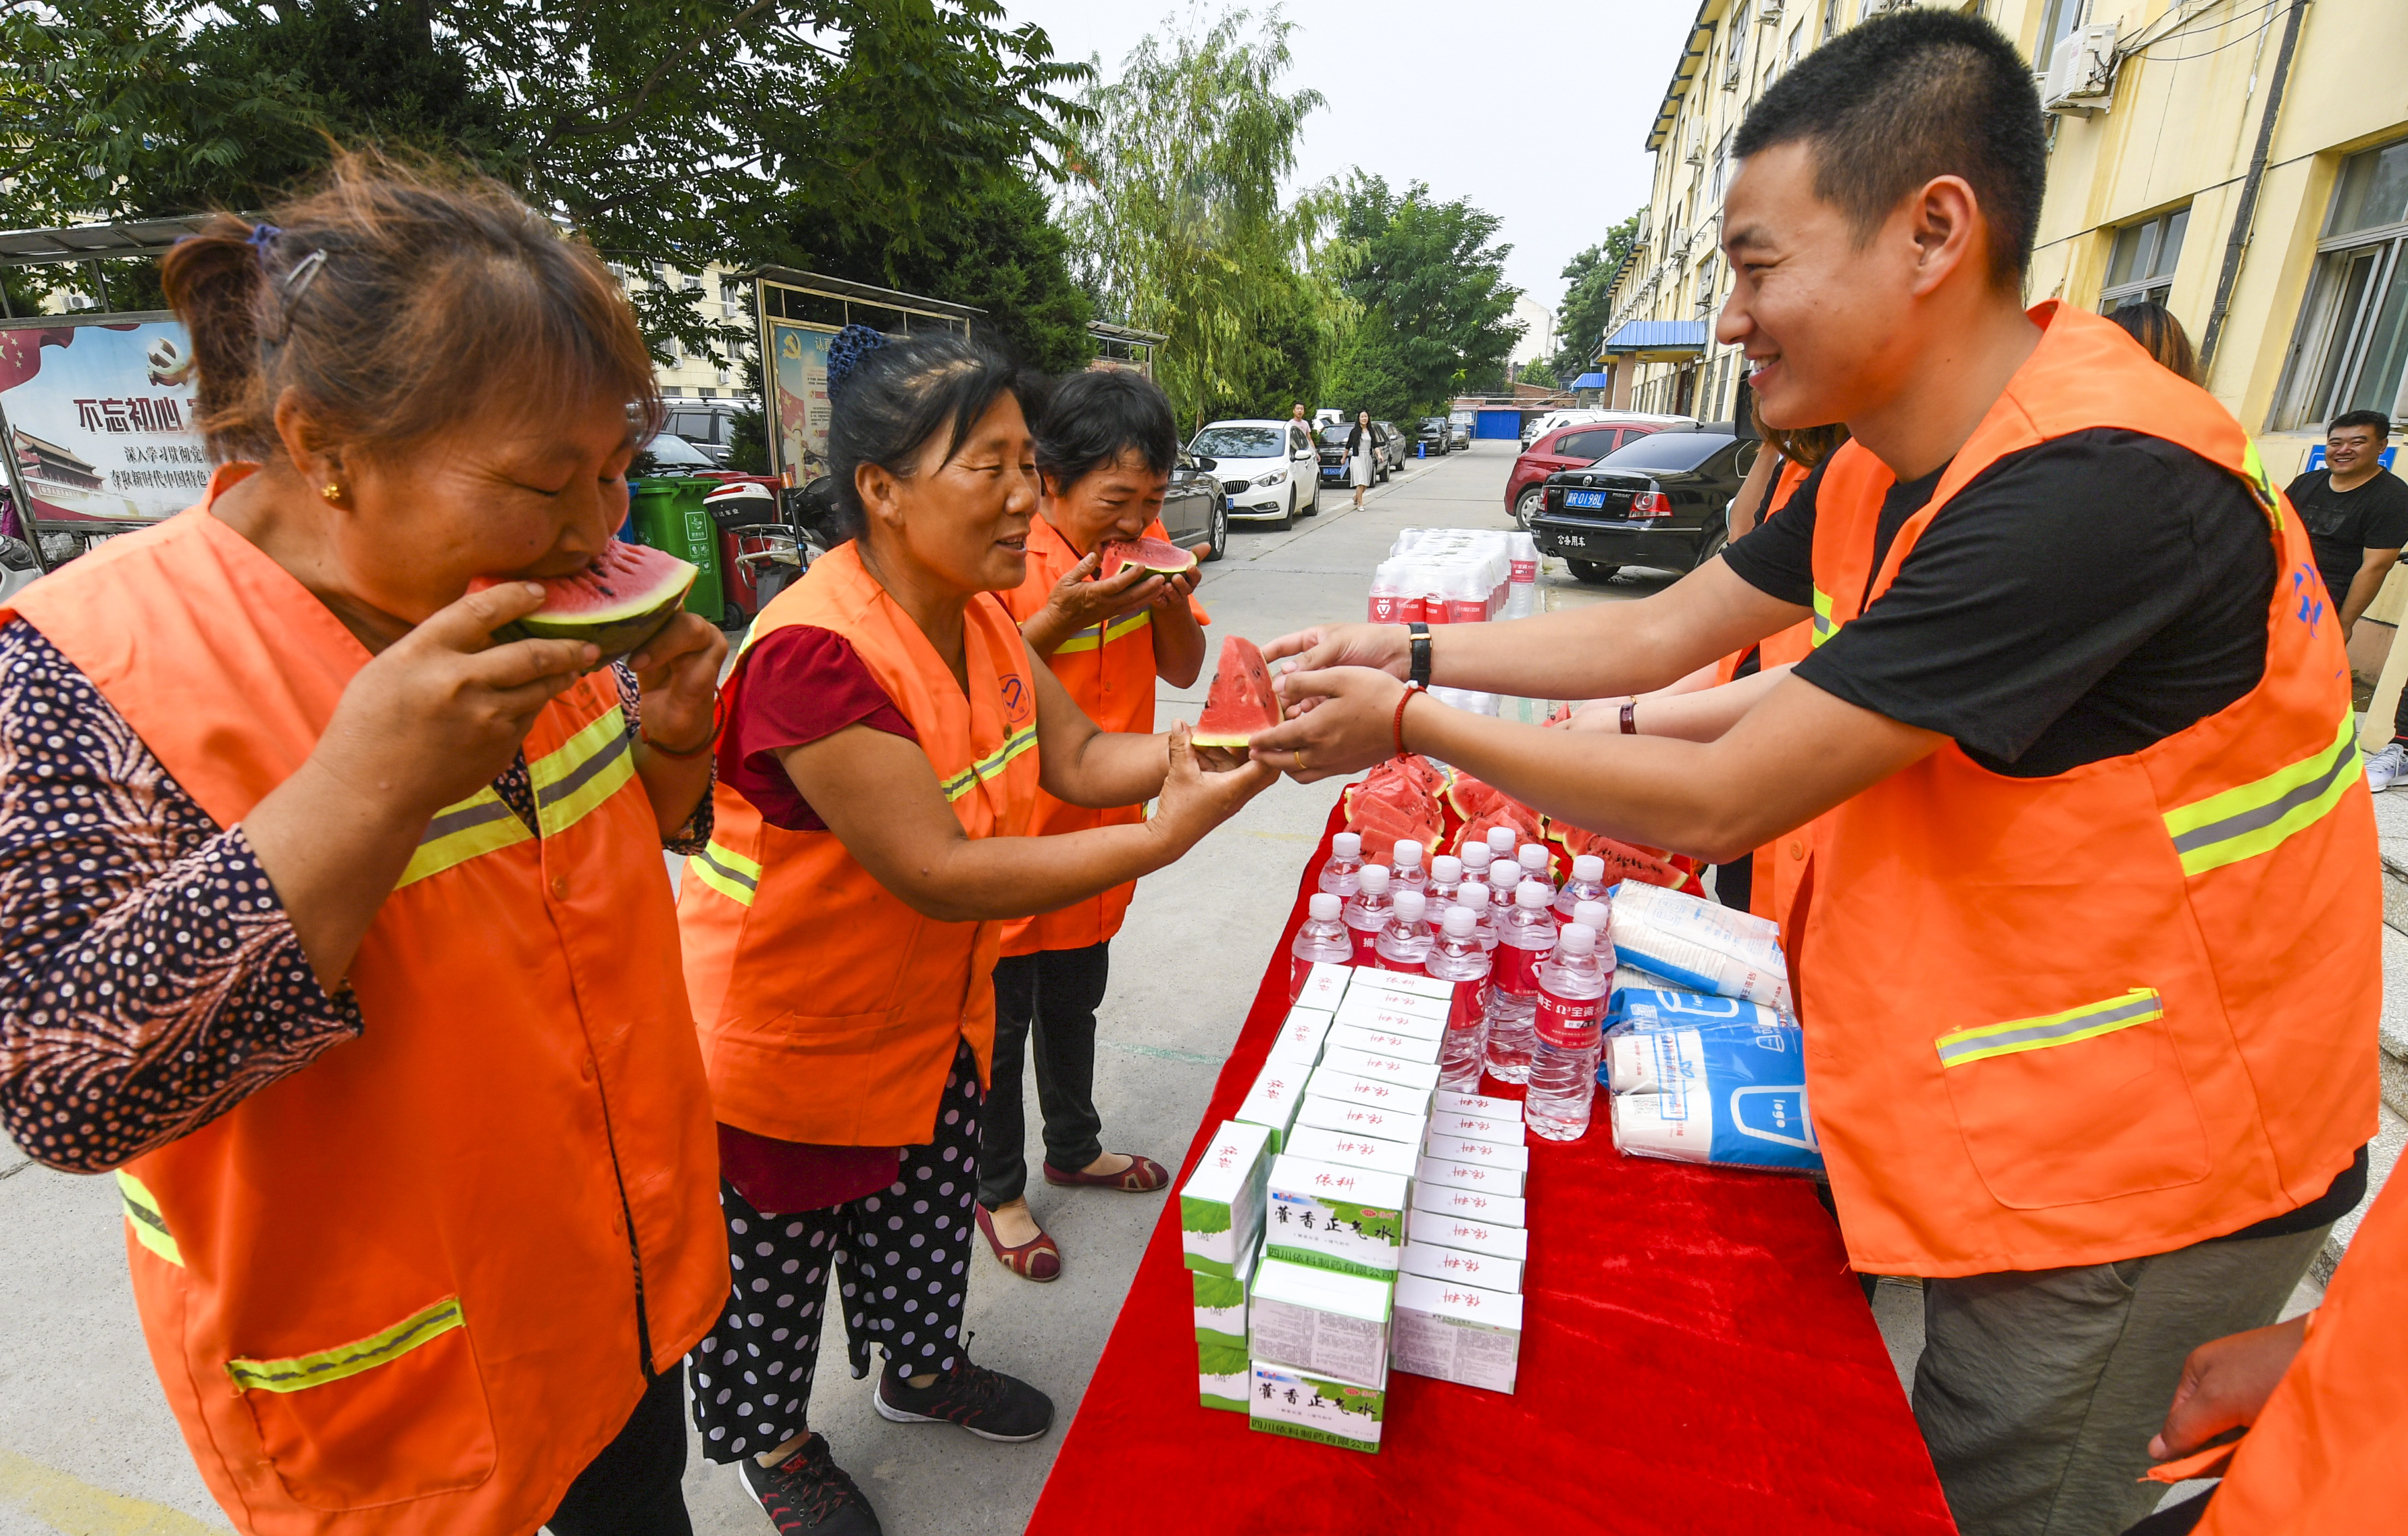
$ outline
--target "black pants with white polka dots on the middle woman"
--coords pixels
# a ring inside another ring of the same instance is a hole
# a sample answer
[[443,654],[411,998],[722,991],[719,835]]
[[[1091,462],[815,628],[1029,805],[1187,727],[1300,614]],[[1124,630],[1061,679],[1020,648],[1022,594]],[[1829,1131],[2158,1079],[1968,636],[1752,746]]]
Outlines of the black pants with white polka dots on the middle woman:
[[720,1182],[734,1288],[718,1327],[686,1355],[708,1459],[751,1457],[807,1428],[831,1266],[855,1377],[869,1375],[872,1343],[910,1375],[954,1370],[975,1233],[980,1100],[978,1062],[963,1045],[937,1110],[937,1139],[903,1148],[893,1185],[840,1206],[761,1216]]

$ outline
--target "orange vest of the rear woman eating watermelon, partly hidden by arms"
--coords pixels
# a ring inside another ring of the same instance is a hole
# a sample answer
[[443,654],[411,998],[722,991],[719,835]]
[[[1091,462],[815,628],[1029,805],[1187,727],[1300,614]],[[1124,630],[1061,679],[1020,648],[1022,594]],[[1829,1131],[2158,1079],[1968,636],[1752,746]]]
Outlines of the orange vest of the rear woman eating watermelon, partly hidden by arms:
[[[1170,542],[1170,532],[1153,522],[1144,537]],[[1028,578],[1004,592],[1004,607],[1014,619],[1026,624],[1045,609],[1052,597],[1055,583],[1069,575],[1081,556],[1069,547],[1045,518],[1035,518],[1028,525]],[[1194,597],[1187,599],[1194,609],[1197,624],[1211,624],[1204,614],[1204,604]],[[1081,628],[1069,640],[1055,645],[1052,657],[1047,657],[1062,689],[1072,696],[1086,717],[1110,732],[1153,732],[1153,686],[1156,686],[1156,662],[1153,662],[1153,612],[1139,609],[1134,614],[1122,614],[1120,619],[1108,619]],[[1144,807],[1074,807],[1069,802],[1055,799],[1045,790],[1038,790],[1038,814],[1028,826],[1031,835],[1045,838],[1052,833],[1079,833],[1091,826],[1134,826],[1144,821]],[[1040,949],[1086,949],[1091,944],[1103,944],[1120,932],[1120,920],[1129,912],[1129,896],[1137,891],[1137,881],[1125,886],[1110,886],[1086,900],[1076,900],[1057,912],[1038,912],[1035,917],[1016,917],[1004,924],[1004,949],[1007,956],[1033,956]]]

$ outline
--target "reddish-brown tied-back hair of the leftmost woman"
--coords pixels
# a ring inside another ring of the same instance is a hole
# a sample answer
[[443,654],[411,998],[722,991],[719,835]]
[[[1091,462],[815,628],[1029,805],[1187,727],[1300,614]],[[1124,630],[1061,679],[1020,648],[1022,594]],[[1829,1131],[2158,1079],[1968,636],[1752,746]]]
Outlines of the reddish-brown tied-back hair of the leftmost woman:
[[609,267],[484,176],[340,154],[318,188],[246,224],[217,214],[161,258],[193,335],[209,457],[284,455],[291,392],[311,448],[395,460],[460,424],[624,400],[660,431],[660,385]]

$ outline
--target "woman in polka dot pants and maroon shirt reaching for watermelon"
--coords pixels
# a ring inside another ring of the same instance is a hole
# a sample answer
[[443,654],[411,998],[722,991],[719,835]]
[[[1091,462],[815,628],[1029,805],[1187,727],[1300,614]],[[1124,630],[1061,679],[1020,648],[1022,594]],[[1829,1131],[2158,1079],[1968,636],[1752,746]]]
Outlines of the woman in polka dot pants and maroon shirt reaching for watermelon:
[[[831,1269],[852,1375],[886,1351],[884,1418],[1052,1425],[961,1336],[1002,924],[1170,864],[1274,775],[1199,770],[1185,727],[1103,732],[1031,657],[997,599],[1028,571],[1031,376],[956,337],[848,327],[828,392],[852,537],[754,626],[679,893],[734,1266],[691,1365],[706,1454],[780,1529],[874,1531],[807,1425]],[[1156,811],[1038,838],[1040,787]]]

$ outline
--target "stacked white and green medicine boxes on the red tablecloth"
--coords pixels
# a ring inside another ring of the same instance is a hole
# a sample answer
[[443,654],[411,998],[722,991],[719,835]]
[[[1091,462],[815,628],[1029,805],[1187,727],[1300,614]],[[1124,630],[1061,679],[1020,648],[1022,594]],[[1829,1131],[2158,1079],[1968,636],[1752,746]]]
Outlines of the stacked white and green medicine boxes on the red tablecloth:
[[1180,1192],[1206,1408],[1377,1452],[1389,1367],[1512,1392],[1529,1151],[1522,1105],[1438,1091],[1450,994],[1315,965]]

